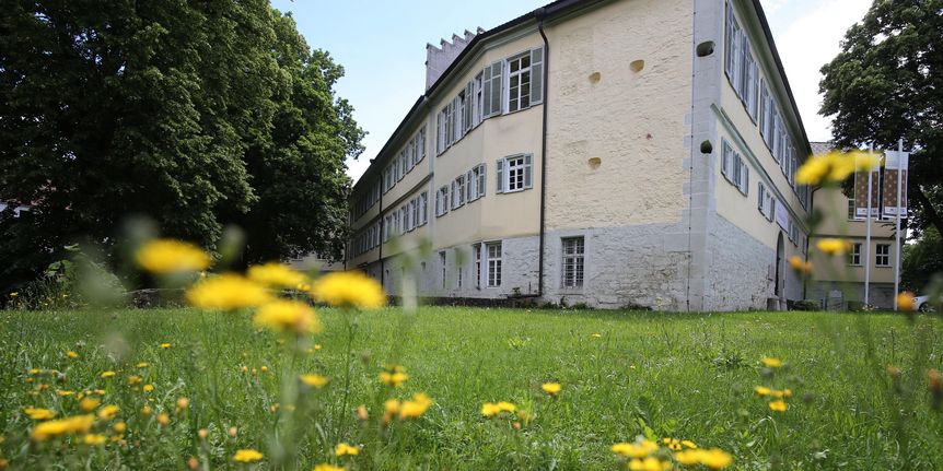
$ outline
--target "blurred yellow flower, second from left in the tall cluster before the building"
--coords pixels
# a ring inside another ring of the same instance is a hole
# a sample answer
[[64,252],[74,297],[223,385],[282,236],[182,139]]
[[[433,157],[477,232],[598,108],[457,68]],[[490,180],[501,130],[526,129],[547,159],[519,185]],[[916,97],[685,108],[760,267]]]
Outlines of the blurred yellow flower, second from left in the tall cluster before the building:
[[272,296],[264,285],[229,273],[200,281],[187,291],[186,298],[205,309],[240,309],[261,306]]

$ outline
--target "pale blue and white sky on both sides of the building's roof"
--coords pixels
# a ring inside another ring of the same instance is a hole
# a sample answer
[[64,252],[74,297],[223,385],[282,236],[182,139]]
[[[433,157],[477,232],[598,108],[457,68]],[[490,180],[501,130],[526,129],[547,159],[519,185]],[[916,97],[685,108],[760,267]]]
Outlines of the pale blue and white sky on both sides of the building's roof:
[[[489,30],[550,0],[272,0],[291,12],[312,48],[325,49],[345,68],[337,95],[350,102],[368,132],[366,150],[348,160],[359,178],[426,89],[426,44],[439,46],[476,27]],[[811,141],[830,139],[829,121],[817,114],[819,69],[838,54],[849,26],[870,0],[761,0],[770,30]]]

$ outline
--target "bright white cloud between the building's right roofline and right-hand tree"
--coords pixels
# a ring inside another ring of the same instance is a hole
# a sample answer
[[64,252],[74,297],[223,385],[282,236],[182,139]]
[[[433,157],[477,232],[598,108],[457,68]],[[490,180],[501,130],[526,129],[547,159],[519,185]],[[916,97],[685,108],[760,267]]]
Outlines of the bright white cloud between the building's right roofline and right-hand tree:
[[831,139],[831,130],[829,119],[818,115],[820,69],[838,55],[845,32],[864,16],[870,1],[829,0],[808,4],[812,7],[798,12],[785,31],[776,36],[776,45],[808,139],[826,141]]

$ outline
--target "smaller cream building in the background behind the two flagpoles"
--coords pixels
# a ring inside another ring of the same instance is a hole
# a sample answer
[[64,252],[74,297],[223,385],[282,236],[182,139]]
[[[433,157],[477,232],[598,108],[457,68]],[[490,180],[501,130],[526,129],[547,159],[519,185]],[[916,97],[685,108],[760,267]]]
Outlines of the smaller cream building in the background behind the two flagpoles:
[[[825,142],[813,142],[816,154],[830,151]],[[875,190],[880,181],[874,181]],[[871,220],[871,245],[866,244],[868,222],[854,211],[854,200],[838,188],[813,190],[813,205],[822,214],[822,223],[811,237],[814,246],[823,238],[842,238],[851,244],[847,257],[825,257],[816,254],[806,297],[829,309],[847,309],[864,303],[865,267],[870,266],[869,303],[882,309],[894,308],[894,266],[898,247],[895,221]],[[866,201],[866,200],[865,200]],[[877,210],[875,203],[875,210]],[[864,213],[866,215],[866,212]],[[903,239],[901,239],[903,243]],[[865,249],[865,247],[868,247]]]

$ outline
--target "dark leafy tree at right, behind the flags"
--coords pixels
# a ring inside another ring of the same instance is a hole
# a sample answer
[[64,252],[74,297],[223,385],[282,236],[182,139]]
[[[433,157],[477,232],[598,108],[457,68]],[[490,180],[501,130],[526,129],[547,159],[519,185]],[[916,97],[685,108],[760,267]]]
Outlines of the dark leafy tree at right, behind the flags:
[[[943,0],[875,0],[822,68],[839,148],[912,151],[910,228],[943,233]],[[943,252],[943,240],[936,238]]]

